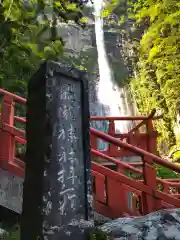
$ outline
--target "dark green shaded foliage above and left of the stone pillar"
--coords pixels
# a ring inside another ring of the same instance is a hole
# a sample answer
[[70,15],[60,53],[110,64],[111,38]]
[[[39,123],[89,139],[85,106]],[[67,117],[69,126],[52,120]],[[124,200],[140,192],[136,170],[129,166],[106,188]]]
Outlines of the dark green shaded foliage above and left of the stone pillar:
[[[81,0],[3,0],[0,3],[0,87],[23,97],[41,60],[63,53],[59,22],[84,26]],[[47,17],[46,13],[50,13]]]

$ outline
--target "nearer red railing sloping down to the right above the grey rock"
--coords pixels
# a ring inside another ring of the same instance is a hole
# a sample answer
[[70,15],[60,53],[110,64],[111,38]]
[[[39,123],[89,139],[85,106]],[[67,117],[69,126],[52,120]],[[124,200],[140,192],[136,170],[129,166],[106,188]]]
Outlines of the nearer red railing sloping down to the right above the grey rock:
[[[129,151],[140,155],[143,159],[143,171],[136,169],[128,164],[119,162],[114,158],[102,155],[97,150],[91,150],[93,154],[108,159],[118,165],[119,172],[109,170],[99,164],[93,163],[94,184],[96,186],[96,204],[100,211],[106,212],[108,216],[119,216],[124,212],[126,215],[146,214],[165,207],[179,207],[179,194],[171,194],[170,189],[176,188],[176,192],[180,188],[180,180],[176,182],[156,178],[156,170],[154,164],[165,166],[173,171],[180,173],[180,167],[163,160],[147,151],[124,143],[115,139],[108,134],[91,129],[91,134],[104,139],[111,144],[120,146]],[[135,174],[142,176],[143,180],[135,181],[125,175],[125,170],[130,170]],[[159,187],[161,185],[161,188]],[[103,189],[102,189],[103,187]],[[128,206],[127,192],[133,193],[132,207]],[[109,199],[110,198],[110,199]],[[114,200],[113,200],[114,199]]]

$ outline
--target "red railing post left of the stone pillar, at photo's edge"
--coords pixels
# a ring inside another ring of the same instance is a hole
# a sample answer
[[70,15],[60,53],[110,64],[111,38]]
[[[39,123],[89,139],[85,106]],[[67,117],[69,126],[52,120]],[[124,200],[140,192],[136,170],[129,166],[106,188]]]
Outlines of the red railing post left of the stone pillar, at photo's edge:
[[14,136],[5,130],[5,124],[14,124],[14,99],[11,95],[4,95],[0,122],[0,167],[7,169],[8,162],[13,160]]

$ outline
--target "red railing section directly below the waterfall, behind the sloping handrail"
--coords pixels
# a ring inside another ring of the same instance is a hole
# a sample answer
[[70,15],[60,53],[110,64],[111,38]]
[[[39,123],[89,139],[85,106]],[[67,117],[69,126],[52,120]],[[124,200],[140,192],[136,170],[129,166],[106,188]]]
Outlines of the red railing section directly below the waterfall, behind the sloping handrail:
[[[91,121],[108,121],[109,129],[107,134],[118,138],[131,145],[137,146],[141,149],[147,150],[151,153],[157,153],[157,137],[158,133],[153,128],[153,120],[159,119],[161,116],[155,117],[153,110],[149,116],[125,116],[125,117],[91,117]],[[116,133],[115,122],[117,121],[141,121],[138,125],[132,128],[127,133]],[[143,132],[142,132],[143,127]],[[98,138],[91,135],[91,146],[93,149],[98,149]],[[108,149],[103,151],[104,154],[113,157],[127,157],[134,156],[133,152],[127,149],[121,149],[118,146],[109,144]]]

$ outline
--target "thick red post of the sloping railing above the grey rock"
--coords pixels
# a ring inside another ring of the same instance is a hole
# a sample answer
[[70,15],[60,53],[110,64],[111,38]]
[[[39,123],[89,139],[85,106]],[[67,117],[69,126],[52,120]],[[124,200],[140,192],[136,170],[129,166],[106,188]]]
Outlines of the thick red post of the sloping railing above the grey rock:
[[154,191],[157,189],[156,170],[153,167],[153,160],[150,157],[143,159],[144,183],[149,188],[150,194],[143,192],[142,194],[142,210],[143,214],[161,209],[161,200],[154,196]]

